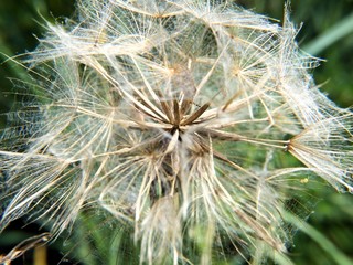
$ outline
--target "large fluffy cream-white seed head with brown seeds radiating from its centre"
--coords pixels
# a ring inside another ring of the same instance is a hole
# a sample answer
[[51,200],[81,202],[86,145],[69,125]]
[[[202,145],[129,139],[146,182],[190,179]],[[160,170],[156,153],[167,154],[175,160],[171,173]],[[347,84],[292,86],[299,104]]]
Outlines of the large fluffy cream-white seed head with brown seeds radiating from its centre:
[[222,2],[82,0],[47,25],[34,99],[2,136],[2,227],[61,233],[99,206],[135,227],[141,263],[261,259],[286,252],[303,178],[352,191],[352,113],[313,84],[288,17]]

